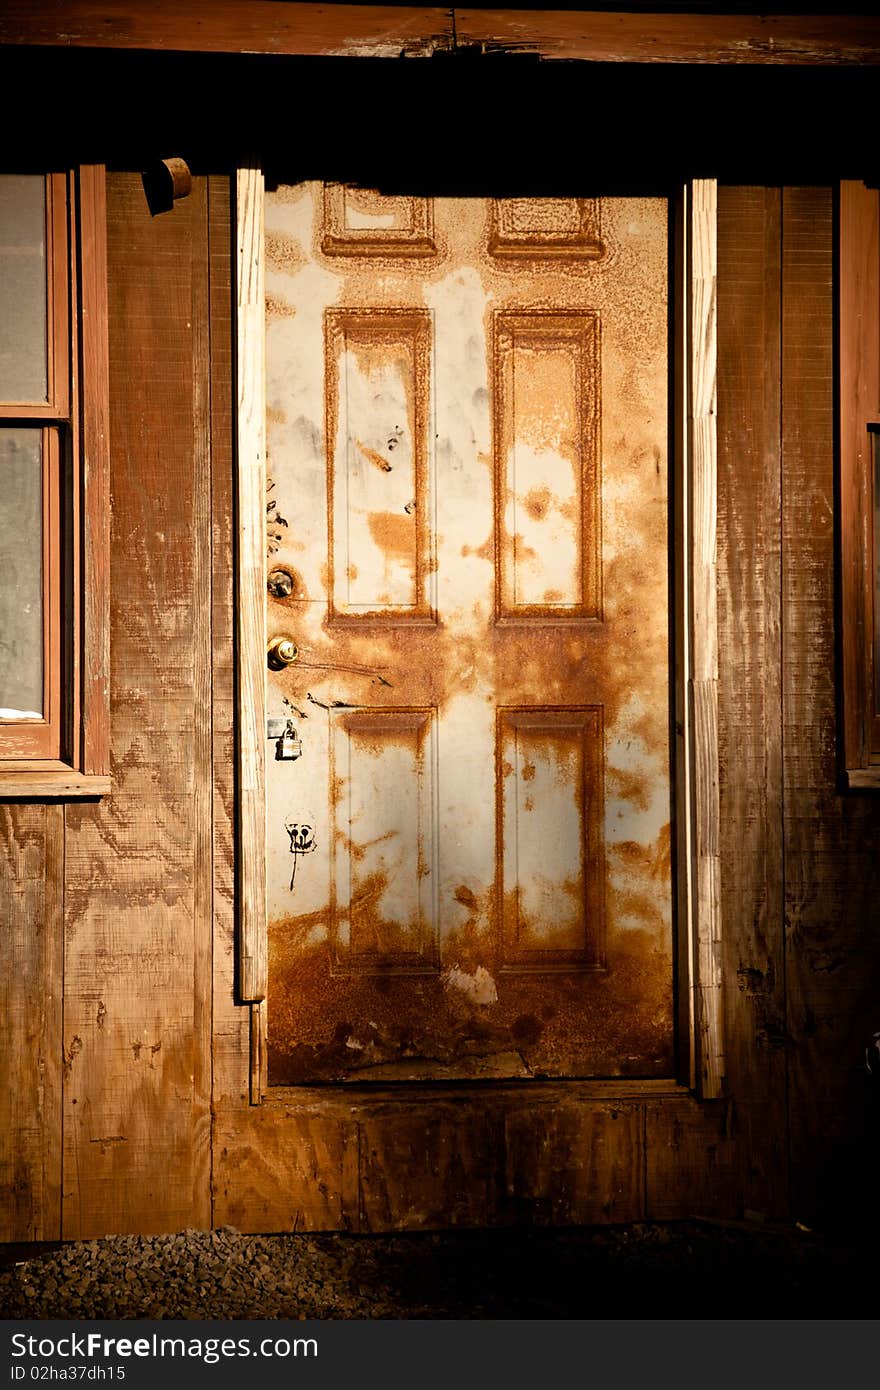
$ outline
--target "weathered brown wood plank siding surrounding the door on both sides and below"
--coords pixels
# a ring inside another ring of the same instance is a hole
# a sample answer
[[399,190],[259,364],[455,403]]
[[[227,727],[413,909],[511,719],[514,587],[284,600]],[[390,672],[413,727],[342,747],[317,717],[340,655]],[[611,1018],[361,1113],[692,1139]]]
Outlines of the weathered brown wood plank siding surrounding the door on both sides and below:
[[252,1106],[234,998],[229,183],[196,178],[152,217],[140,178],[110,175],[114,791],[0,808],[1,1238],[809,1223],[859,1197],[866,1151],[847,1141],[880,1027],[880,798],[837,785],[831,213],[827,186],[720,189],[730,1098],[553,1086],[537,1113],[523,1090],[313,1090]]

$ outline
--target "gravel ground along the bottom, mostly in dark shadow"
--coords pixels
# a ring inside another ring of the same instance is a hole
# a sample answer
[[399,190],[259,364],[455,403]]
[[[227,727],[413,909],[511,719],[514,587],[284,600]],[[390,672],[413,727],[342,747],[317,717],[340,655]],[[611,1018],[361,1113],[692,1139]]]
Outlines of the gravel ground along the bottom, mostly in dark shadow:
[[0,1247],[4,1318],[865,1318],[867,1244],[676,1222]]

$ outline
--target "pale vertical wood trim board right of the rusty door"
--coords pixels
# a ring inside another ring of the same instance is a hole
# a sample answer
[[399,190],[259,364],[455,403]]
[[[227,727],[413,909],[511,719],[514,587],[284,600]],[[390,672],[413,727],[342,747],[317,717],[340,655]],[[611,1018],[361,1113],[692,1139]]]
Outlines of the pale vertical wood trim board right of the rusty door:
[[692,746],[692,913],[696,1084],[705,1098],[722,1093],[722,902],[717,763],[716,594],[716,278],[717,183],[694,179],[687,211],[690,521],[690,716]]

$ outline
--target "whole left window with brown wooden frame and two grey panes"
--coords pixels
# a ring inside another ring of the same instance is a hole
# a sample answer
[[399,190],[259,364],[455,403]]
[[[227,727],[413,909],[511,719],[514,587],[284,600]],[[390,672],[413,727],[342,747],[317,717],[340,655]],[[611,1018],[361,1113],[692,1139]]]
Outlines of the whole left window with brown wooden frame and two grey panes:
[[107,778],[103,170],[0,174],[0,794]]

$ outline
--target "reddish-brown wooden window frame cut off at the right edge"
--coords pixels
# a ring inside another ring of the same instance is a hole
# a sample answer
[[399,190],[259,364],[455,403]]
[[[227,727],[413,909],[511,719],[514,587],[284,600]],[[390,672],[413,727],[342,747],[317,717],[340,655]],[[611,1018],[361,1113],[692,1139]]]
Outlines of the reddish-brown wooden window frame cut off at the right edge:
[[874,448],[880,427],[880,189],[840,185],[840,538],[844,781],[880,791]]

